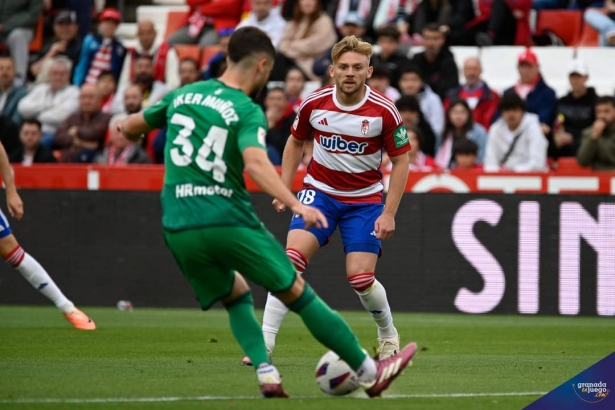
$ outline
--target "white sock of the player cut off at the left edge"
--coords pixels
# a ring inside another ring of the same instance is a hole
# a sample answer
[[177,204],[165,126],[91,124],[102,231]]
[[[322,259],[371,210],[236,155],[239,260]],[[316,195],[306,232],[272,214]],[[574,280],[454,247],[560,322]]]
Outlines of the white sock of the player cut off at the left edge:
[[[21,260],[21,261],[20,261]],[[9,255],[7,262],[13,265],[35,289],[51,300],[62,313],[75,309],[73,302],[68,300],[55,284],[45,269],[29,254],[19,247]],[[13,263],[14,262],[14,263]]]

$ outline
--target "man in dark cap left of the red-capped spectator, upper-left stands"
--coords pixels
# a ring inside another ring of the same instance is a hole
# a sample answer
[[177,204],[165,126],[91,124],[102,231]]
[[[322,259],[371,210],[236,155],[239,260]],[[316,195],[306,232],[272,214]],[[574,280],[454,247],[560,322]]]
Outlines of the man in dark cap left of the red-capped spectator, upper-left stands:
[[[77,14],[71,10],[62,10],[53,24],[54,38],[45,43],[36,61],[30,66],[30,73],[36,84],[49,81],[49,69],[56,56],[66,56],[72,67],[76,67],[81,54],[81,39],[77,35]],[[72,72],[71,77],[72,78]]]

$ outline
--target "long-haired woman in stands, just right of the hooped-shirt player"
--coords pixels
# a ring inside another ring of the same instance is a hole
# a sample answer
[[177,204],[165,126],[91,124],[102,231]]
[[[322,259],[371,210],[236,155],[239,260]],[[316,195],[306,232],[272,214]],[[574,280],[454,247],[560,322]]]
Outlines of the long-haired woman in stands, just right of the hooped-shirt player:
[[446,113],[446,127],[442,143],[436,153],[436,163],[442,169],[455,167],[454,146],[457,141],[468,139],[478,146],[478,162],[482,163],[487,145],[487,131],[474,122],[472,110],[464,100],[454,100]]

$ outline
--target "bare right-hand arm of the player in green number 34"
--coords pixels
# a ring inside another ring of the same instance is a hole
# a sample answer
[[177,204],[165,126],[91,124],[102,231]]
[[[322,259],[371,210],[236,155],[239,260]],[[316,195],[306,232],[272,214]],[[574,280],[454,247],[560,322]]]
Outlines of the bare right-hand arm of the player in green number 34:
[[275,168],[262,148],[249,147],[243,150],[245,170],[256,184],[266,193],[277,198],[295,214],[305,220],[306,229],[318,225],[327,227],[327,219],[316,208],[303,205],[295,195],[284,186]]

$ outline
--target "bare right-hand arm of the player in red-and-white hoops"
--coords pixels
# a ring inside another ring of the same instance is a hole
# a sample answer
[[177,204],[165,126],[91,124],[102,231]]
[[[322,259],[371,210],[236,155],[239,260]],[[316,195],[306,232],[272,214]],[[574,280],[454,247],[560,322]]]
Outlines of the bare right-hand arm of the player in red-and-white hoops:
[[404,152],[401,155],[391,157],[391,163],[393,168],[391,170],[389,191],[384,211],[376,220],[376,226],[374,227],[377,237],[383,241],[389,239],[395,232],[395,215],[397,215],[399,202],[408,181],[408,168],[410,165],[408,153]]

